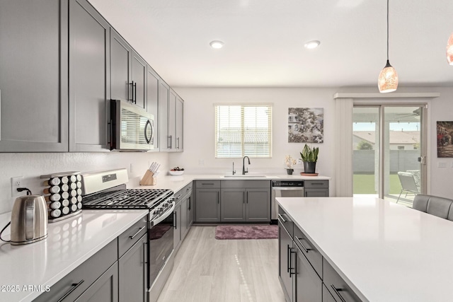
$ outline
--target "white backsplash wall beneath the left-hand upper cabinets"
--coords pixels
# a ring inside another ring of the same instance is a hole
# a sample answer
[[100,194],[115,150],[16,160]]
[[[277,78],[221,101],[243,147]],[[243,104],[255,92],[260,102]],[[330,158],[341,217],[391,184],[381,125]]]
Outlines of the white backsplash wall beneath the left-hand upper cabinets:
[[0,214],[11,211],[16,199],[11,197],[11,177],[23,176],[23,187],[42,194],[40,175],[127,168],[129,178],[135,178],[153,161],[161,163],[159,170],[167,170],[168,153],[0,153]]

